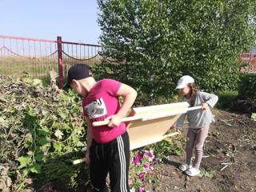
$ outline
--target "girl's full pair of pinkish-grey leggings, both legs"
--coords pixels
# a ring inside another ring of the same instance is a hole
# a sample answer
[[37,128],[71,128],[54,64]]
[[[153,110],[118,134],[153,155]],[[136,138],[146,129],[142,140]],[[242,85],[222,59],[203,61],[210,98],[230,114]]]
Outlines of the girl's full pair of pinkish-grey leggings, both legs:
[[202,161],[202,147],[208,134],[209,126],[199,129],[189,128],[186,135],[186,164],[190,165],[193,149],[195,150],[194,167],[200,167]]

